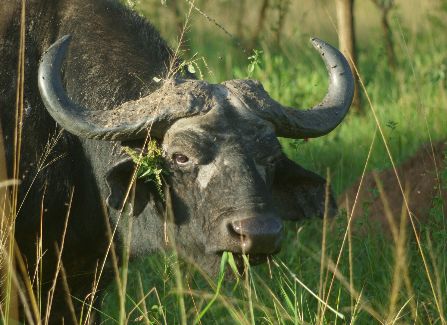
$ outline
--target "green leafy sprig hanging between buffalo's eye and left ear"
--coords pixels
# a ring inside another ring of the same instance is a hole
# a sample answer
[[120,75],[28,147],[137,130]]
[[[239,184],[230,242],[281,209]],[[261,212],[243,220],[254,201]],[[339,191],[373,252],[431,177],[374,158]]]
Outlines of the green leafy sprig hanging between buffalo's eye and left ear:
[[[134,150],[126,147],[126,152],[132,157],[134,162],[139,165],[137,171],[138,178],[145,178],[144,183],[154,182],[156,183],[158,194],[160,194],[161,200],[164,201],[163,191],[161,190],[161,173],[169,175],[167,171],[161,168],[161,151],[158,148],[155,141],[148,142],[148,154],[137,154]],[[165,202],[165,201],[164,201]]]

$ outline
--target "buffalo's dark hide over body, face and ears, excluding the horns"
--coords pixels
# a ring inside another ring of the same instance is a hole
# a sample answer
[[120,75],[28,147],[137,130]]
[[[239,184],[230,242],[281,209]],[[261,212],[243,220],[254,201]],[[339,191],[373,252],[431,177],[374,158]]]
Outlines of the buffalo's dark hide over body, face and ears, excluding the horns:
[[[13,178],[20,3],[1,4],[11,15],[0,17],[0,119],[9,178]],[[76,104],[103,110],[148,95],[135,75],[146,80],[151,91],[160,87],[152,78],[166,74],[171,51],[148,21],[115,1],[29,0],[26,8],[18,193],[23,205],[17,215],[16,240],[33,274],[43,202],[42,292],[48,292],[57,262],[54,242],[60,246],[73,191],[62,260],[71,294],[84,300],[108,247],[104,209],[114,228],[135,168],[125,148],[141,150],[144,141],[98,141],[61,129],[38,91],[39,60],[57,39],[72,34],[62,67],[65,92]],[[194,75],[187,73],[184,78],[194,79]],[[213,87],[215,105],[209,112],[180,119],[155,139],[169,172],[165,179],[179,250],[210,275],[217,274],[223,250],[250,253],[253,265],[263,262],[266,254],[281,249],[284,220],[321,217],[325,201],[325,179],[283,155],[273,126],[243,108],[223,85]],[[48,140],[59,133],[46,162],[57,159],[38,173]],[[179,163],[178,154],[188,160]],[[160,212],[164,208],[154,184],[139,179],[133,206],[132,259],[166,248]],[[329,208],[329,215],[336,212],[332,194]],[[118,225],[114,238],[118,256],[123,232],[123,225]],[[114,279],[113,270],[109,254],[100,291]],[[79,317],[82,305],[72,301]],[[99,308],[101,300],[96,301]],[[72,321],[58,281],[50,324],[59,324],[62,317],[65,324]]]

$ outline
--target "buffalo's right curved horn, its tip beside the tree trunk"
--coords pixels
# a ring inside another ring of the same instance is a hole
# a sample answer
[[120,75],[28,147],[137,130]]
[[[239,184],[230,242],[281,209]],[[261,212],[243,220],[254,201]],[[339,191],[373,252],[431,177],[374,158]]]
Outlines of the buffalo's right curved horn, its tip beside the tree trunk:
[[337,127],[349,111],[354,96],[354,78],[346,58],[329,44],[311,37],[310,41],[326,64],[329,89],[315,107],[299,110],[283,106],[270,98],[256,80],[230,80],[223,84],[247,109],[271,122],[278,137],[295,139],[320,137]]

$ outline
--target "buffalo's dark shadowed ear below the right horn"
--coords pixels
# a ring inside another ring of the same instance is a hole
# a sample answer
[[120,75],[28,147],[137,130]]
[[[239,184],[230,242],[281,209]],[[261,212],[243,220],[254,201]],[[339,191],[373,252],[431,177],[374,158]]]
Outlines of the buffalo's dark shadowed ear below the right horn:
[[[332,187],[329,189],[328,217],[333,217],[338,208]],[[323,217],[325,213],[326,180],[299,166],[284,154],[276,166],[270,193],[283,220]]]

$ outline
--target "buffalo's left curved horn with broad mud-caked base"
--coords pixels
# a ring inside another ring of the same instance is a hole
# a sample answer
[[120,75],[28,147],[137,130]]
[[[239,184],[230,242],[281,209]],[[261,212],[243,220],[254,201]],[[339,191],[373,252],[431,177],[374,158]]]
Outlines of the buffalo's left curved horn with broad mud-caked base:
[[71,35],[61,37],[42,56],[39,91],[51,116],[67,131],[97,140],[132,140],[150,133],[162,137],[173,121],[209,111],[213,87],[200,80],[171,79],[156,92],[113,110],[90,110],[76,105],[65,93],[61,65]]

